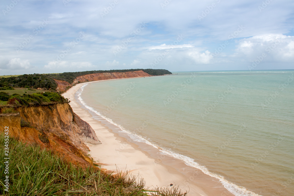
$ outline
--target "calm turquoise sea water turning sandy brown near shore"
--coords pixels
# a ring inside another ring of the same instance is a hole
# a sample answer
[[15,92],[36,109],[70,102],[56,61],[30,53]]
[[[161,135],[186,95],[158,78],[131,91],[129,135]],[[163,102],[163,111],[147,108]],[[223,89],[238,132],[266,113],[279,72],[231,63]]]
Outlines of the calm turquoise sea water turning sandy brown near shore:
[[[134,140],[187,165],[259,195],[293,195],[293,74],[178,72],[89,83],[80,97],[123,131],[141,136]],[[223,184],[235,195],[247,194]]]

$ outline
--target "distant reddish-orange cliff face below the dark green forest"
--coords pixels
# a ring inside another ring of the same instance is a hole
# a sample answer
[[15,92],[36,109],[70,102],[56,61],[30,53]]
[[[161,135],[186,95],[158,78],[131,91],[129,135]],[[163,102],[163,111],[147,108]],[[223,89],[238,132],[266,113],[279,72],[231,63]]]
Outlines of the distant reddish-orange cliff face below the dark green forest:
[[87,74],[78,76],[73,84],[70,84],[66,81],[61,80],[55,80],[57,83],[56,90],[59,92],[65,92],[67,89],[71,88],[72,85],[77,83],[83,83],[83,82],[92,82],[92,81],[99,81],[99,80],[110,80],[110,79],[119,79],[119,78],[136,78],[136,77],[148,77],[151,76],[148,73],[144,71],[129,71],[129,72],[113,72],[113,73],[93,73],[93,74]]

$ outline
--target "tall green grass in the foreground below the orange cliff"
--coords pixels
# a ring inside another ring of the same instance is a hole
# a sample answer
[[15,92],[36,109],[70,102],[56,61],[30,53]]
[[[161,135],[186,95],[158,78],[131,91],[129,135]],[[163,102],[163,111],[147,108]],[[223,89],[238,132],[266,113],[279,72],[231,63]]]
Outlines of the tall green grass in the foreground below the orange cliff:
[[[0,136],[4,145],[4,136]],[[0,159],[4,160],[4,151]],[[185,196],[178,191],[145,190],[145,182],[128,175],[111,175],[94,168],[83,169],[62,160],[39,146],[24,145],[9,138],[9,195],[111,195],[111,196]],[[0,195],[4,192],[4,164],[0,162]]]

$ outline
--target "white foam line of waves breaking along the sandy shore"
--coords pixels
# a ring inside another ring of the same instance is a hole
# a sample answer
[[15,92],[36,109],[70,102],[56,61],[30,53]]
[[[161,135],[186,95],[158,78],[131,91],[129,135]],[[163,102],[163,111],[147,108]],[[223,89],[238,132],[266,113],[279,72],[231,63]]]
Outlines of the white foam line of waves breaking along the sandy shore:
[[129,130],[126,130],[125,128],[123,128],[121,125],[113,122],[110,118],[107,118],[106,116],[104,116],[103,114],[101,114],[100,112],[96,111],[93,107],[87,105],[84,100],[81,98],[81,94],[83,93],[84,87],[87,86],[88,84],[84,84],[79,91],[77,91],[78,93],[78,100],[81,102],[81,104],[87,108],[88,110],[94,112],[95,114],[97,114],[98,116],[102,117],[103,119],[105,119],[108,123],[111,123],[115,126],[117,126],[120,129],[120,132],[126,133],[133,141],[137,141],[137,142],[142,142],[142,143],[146,143],[148,145],[153,146],[154,148],[157,148],[158,150],[160,150],[162,153],[161,154],[165,154],[165,155],[170,155],[178,160],[183,160],[185,162],[186,165],[191,166],[191,167],[195,167],[199,170],[201,170],[203,173],[205,173],[206,175],[209,175],[211,177],[215,177],[217,178],[222,184],[223,186],[230,191],[231,193],[233,193],[236,196],[260,196],[254,192],[248,191],[246,190],[245,187],[241,187],[238,185],[233,184],[232,182],[229,182],[228,180],[225,180],[223,176],[221,175],[216,175],[213,174],[211,172],[209,172],[209,170],[203,166],[198,164],[197,162],[195,162],[194,159],[187,157],[185,155],[181,155],[179,153],[173,152],[171,150],[167,150],[167,149],[163,149],[161,147],[159,147],[156,144],[151,143],[147,138],[143,138],[140,135],[131,133]]

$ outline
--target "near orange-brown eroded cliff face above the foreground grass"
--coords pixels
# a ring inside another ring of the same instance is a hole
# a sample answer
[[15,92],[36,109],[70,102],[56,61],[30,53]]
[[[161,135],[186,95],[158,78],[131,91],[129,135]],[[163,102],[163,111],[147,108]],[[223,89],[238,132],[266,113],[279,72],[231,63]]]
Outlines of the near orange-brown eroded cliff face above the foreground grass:
[[[100,141],[68,103],[9,108],[17,113],[0,114],[1,132],[9,126],[10,137],[54,150],[76,165],[93,165],[85,143],[98,145]],[[1,107],[0,113],[7,109]]]

